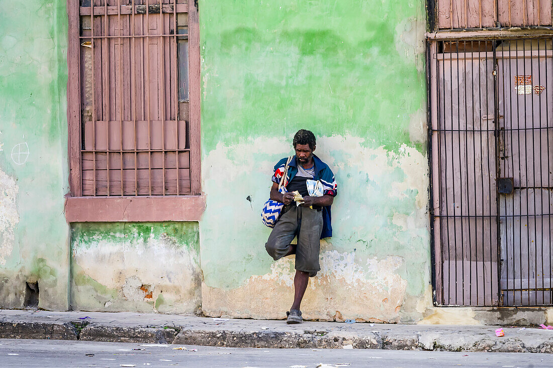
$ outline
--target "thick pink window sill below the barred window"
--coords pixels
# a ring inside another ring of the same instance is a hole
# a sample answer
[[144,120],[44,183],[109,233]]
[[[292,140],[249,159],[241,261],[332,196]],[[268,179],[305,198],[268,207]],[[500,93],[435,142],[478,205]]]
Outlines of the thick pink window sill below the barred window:
[[71,222],[199,221],[205,196],[67,197],[65,219]]

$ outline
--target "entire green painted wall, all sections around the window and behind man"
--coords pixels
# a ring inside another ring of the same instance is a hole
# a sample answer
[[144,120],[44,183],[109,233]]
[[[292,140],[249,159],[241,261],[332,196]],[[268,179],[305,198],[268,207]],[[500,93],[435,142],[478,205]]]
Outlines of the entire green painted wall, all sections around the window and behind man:
[[424,317],[423,2],[199,5],[204,217],[75,224],[70,241],[65,1],[0,0],[0,307],[22,307],[25,281],[38,280],[40,307],[66,309],[71,277],[75,308],[192,313],[201,302],[213,316],[283,317],[293,259],[265,253],[259,211],[274,163],[306,128],[339,194],[304,315]]

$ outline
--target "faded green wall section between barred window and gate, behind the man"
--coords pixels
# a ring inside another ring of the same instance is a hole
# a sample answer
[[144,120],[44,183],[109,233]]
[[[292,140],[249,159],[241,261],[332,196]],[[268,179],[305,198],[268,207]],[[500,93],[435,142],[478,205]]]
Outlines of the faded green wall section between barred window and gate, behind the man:
[[290,307],[293,259],[265,253],[259,212],[300,128],[339,186],[304,316],[429,313],[424,19],[418,0],[200,2],[206,314]]

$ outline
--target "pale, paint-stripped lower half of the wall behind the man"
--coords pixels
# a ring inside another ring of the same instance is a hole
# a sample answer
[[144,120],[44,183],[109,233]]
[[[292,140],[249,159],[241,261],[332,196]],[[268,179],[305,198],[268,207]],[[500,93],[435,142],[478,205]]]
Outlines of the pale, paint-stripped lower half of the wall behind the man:
[[[202,309],[210,316],[281,318],[290,307],[293,261],[273,263],[265,254],[270,230],[259,220],[272,166],[288,154],[283,150],[289,144],[259,138],[218,145],[204,160],[206,177],[228,173],[225,187],[204,181],[207,193],[217,193],[207,196],[200,226]],[[302,307],[306,318],[332,320],[338,311],[345,318],[398,322],[405,313],[416,313],[418,299],[411,296],[425,297],[430,278],[426,156],[408,145],[394,153],[370,144],[349,135],[317,140],[316,154],[335,171],[339,194],[332,207],[335,234],[321,241],[321,272]],[[243,199],[247,196],[253,206]],[[238,233],[245,227],[247,248]],[[224,258],[209,246],[221,234]]]

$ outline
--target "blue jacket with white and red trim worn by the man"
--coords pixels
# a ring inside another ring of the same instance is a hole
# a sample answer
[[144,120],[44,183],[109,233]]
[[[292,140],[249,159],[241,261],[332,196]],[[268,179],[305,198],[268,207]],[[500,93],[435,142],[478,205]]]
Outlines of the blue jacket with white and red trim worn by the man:
[[[288,157],[284,157],[284,159],[281,159],[274,166],[274,174],[272,178],[273,182],[277,184],[280,183],[280,178],[284,174],[286,161],[288,161]],[[313,180],[321,181],[322,187],[324,189],[323,194],[328,194],[329,196],[335,197],[338,192],[336,180],[334,178],[334,174],[332,174],[332,170],[330,170],[330,167],[328,167],[325,162],[322,162],[321,159],[319,159],[319,157],[315,155],[313,155],[313,161],[315,164],[315,177],[313,178]],[[288,183],[294,178],[296,174],[298,174],[298,164],[296,163],[296,156],[294,156],[293,159],[290,161],[290,164],[288,165],[288,173],[286,174],[286,178],[284,179],[283,183],[284,187],[288,186]],[[331,206],[325,206],[322,208],[321,239],[332,236],[332,218],[330,207]]]

